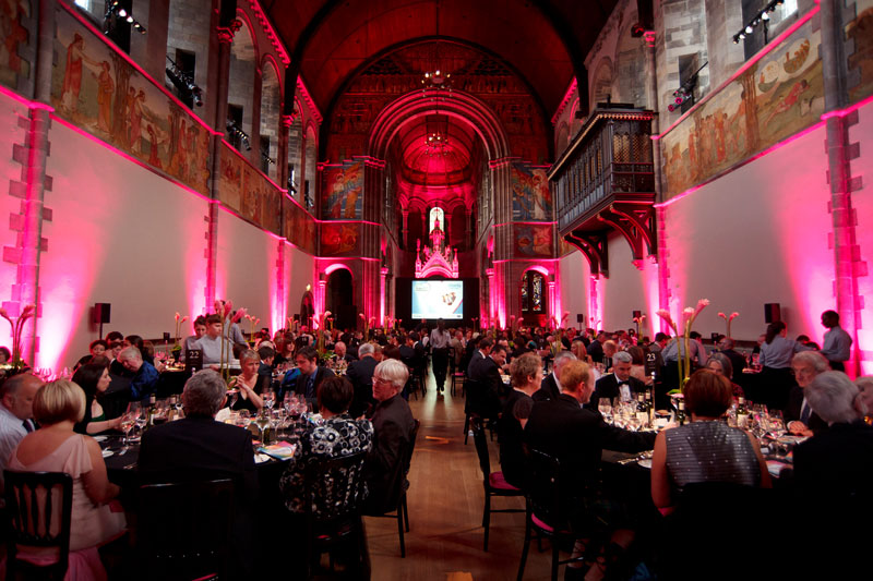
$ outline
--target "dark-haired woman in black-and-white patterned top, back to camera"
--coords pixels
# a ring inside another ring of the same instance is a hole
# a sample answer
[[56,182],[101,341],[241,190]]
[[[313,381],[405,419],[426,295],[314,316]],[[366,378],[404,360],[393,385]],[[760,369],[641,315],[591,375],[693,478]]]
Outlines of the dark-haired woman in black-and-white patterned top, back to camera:
[[[306,511],[302,496],[307,462],[369,451],[372,447],[373,425],[369,420],[352,420],[348,414],[354,392],[351,383],[345,377],[326,377],[319,386],[319,409],[324,423],[311,426],[300,437],[300,444],[279,480],[279,489],[290,512]],[[322,508],[315,507],[315,513]]]

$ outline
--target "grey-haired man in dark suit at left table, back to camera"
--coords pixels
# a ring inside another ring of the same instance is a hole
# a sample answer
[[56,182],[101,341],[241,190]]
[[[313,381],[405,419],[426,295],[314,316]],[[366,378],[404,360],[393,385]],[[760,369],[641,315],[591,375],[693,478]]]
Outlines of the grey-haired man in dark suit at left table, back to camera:
[[143,483],[234,480],[237,505],[229,562],[236,578],[248,578],[254,554],[252,512],[258,476],[251,434],[215,421],[215,414],[227,402],[226,392],[227,386],[218,373],[212,370],[195,373],[182,392],[184,419],[145,432],[137,464]]

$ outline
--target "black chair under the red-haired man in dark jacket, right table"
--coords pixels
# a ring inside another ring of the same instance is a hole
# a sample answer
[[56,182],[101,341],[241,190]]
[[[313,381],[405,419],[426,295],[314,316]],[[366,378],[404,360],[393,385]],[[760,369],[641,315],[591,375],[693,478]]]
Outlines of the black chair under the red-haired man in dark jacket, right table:
[[[538,537],[550,538],[552,545],[551,579],[558,579],[558,568],[561,565],[582,561],[590,555],[576,558],[560,559],[560,547],[565,544],[571,546],[581,536],[591,537],[590,531],[581,533],[571,526],[570,515],[575,507],[571,506],[571,498],[576,495],[564,492],[562,484],[565,480],[561,462],[539,450],[527,450],[528,476],[530,486],[527,491],[527,510],[525,515],[525,541],[522,548],[522,562],[518,565],[518,581],[525,572],[527,552],[530,548],[530,537],[536,533]],[[579,492],[583,493],[583,492]],[[591,542],[589,548],[599,547],[600,544]]]

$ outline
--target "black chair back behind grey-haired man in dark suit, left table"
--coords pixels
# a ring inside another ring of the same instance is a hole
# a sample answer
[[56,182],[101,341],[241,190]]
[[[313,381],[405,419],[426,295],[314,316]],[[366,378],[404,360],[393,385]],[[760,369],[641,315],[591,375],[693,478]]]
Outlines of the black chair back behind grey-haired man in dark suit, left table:
[[232,480],[146,484],[139,491],[141,579],[225,579],[235,517]]

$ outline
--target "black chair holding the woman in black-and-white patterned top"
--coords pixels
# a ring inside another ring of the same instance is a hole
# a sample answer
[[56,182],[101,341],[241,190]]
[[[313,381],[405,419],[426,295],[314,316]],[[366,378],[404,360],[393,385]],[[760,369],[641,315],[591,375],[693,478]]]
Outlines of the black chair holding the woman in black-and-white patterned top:
[[[366,451],[338,458],[311,458],[303,476],[309,577],[319,567],[322,553],[355,542],[358,547],[356,579],[370,578],[370,555],[361,519]],[[351,554],[350,550],[343,553]],[[331,556],[333,566],[333,556]],[[309,578],[307,577],[307,578]]]

